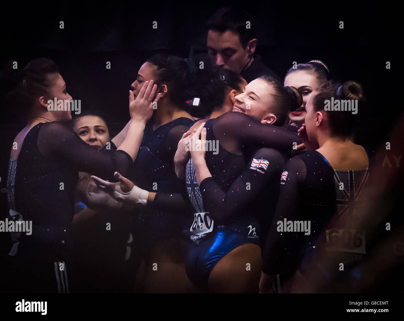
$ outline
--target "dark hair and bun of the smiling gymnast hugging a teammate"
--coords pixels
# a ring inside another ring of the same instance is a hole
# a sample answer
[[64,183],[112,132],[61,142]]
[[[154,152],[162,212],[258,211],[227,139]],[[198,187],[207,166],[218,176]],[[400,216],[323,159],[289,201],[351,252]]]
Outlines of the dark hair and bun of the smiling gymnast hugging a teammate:
[[275,103],[271,107],[271,113],[276,116],[276,121],[273,125],[283,126],[288,120],[288,114],[303,104],[301,93],[295,87],[284,87],[272,76],[261,76],[257,79],[265,80],[274,88]]

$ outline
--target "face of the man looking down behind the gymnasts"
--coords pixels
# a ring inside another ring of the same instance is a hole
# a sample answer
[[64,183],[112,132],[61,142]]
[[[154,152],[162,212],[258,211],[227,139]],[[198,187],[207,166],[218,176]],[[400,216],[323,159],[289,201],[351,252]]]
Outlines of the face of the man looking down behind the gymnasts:
[[207,44],[212,63],[236,73],[242,71],[254,52],[254,50],[252,52],[248,50],[248,45],[243,48],[239,35],[230,30],[223,32],[209,30]]

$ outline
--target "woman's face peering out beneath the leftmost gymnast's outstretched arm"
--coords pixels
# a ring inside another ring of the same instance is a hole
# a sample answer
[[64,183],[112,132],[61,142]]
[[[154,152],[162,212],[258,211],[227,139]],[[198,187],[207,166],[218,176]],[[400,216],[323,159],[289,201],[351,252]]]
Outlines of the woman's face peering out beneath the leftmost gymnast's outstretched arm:
[[103,148],[109,141],[107,124],[98,116],[82,116],[77,119],[73,130],[84,142],[97,149]]

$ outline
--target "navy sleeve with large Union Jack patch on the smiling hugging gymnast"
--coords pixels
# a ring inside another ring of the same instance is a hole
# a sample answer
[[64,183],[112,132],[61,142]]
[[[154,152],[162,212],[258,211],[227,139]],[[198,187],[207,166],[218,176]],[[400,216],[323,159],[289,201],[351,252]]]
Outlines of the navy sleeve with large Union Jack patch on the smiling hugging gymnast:
[[260,148],[227,191],[220,188],[213,177],[207,177],[199,187],[204,211],[209,212],[219,224],[238,221],[245,216],[257,217],[261,226],[261,242],[265,242],[278,200],[278,178],[286,158],[278,150]]

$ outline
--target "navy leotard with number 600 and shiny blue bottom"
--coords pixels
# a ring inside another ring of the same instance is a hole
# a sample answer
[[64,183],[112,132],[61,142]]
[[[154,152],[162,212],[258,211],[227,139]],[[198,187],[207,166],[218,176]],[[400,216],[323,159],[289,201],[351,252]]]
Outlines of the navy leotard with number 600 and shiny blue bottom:
[[[211,143],[216,142],[215,146],[218,148],[218,150],[207,150],[205,155],[206,165],[212,178],[202,181],[201,186],[198,186],[191,160],[188,162],[186,169],[188,194],[194,208],[199,212],[194,214],[194,221],[189,228],[191,240],[198,245],[191,246],[186,271],[190,279],[201,287],[206,287],[210,271],[231,250],[246,243],[260,244],[259,211],[262,208],[258,204],[255,205],[259,209],[248,208],[247,205],[248,198],[251,197],[251,200],[253,200],[256,195],[251,193],[246,196],[239,203],[244,207],[237,208],[234,211],[236,207],[229,206],[227,210],[224,209],[224,205],[219,205],[220,199],[214,195],[215,192],[220,191],[222,195],[229,192],[231,185],[245,170],[247,160],[250,160],[251,153],[247,154],[248,151],[268,146],[288,152],[295,145],[293,143],[299,144],[300,142],[296,133],[274,125],[261,124],[252,117],[241,113],[226,113],[216,119],[210,119],[206,121],[205,127],[206,140]],[[240,152],[240,154],[234,154],[229,150]],[[264,152],[264,150],[269,151],[263,148],[261,152]],[[241,151],[247,155],[244,155]],[[265,157],[270,158],[270,156],[273,156],[276,158],[276,153],[274,151],[274,154],[267,154]],[[257,157],[259,156],[257,155]],[[277,158],[276,163],[278,162],[280,162],[279,158]],[[257,163],[259,163],[259,160],[257,160]],[[251,164],[252,159],[248,164],[249,169],[252,167],[250,166]],[[266,165],[266,163],[261,162],[258,166],[263,166],[263,164]],[[257,167],[257,169],[261,170],[263,167]],[[278,171],[280,170],[278,169]],[[254,175],[253,171],[255,170],[250,169],[250,175],[252,176]],[[242,188],[246,193],[246,185],[242,180],[243,178],[240,177],[240,181],[236,184],[241,186],[242,183]],[[207,193],[206,197],[202,196],[204,193]],[[224,199],[222,198],[222,200]],[[237,203],[234,198],[230,197],[228,199],[233,204],[234,202]],[[249,202],[249,204],[251,205],[252,202]],[[206,206],[212,208],[212,215],[207,212]],[[218,222],[215,221],[215,214],[218,217]],[[265,215],[263,216],[265,217]],[[201,225],[201,223],[203,224]]]

